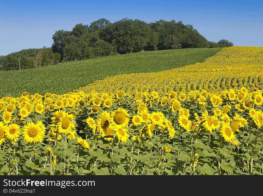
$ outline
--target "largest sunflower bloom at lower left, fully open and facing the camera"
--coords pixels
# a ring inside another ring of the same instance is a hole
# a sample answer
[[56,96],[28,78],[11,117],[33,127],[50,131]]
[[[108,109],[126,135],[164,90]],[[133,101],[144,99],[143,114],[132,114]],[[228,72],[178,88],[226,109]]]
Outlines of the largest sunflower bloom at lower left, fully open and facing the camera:
[[24,136],[24,140],[28,143],[38,143],[44,140],[43,137],[45,135],[45,131],[32,121],[28,122],[22,130],[22,136]]

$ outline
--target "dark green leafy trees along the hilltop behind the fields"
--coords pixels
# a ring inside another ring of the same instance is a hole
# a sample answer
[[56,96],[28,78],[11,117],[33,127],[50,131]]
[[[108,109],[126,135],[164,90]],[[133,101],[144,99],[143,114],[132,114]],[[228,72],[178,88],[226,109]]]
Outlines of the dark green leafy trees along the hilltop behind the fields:
[[25,49],[0,56],[0,69],[17,70],[19,63],[20,69],[30,69],[140,51],[233,46],[225,39],[208,41],[192,25],[182,21],[146,23],[127,18],[114,23],[100,18],[90,25],[76,24],[71,31],[57,30],[52,39],[53,44],[48,48]]

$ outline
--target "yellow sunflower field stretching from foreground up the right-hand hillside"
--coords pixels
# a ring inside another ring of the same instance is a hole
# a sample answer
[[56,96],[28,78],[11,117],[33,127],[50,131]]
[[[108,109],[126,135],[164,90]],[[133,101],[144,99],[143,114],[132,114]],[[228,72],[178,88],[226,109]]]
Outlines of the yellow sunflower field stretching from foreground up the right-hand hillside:
[[0,99],[0,175],[262,175],[263,47]]

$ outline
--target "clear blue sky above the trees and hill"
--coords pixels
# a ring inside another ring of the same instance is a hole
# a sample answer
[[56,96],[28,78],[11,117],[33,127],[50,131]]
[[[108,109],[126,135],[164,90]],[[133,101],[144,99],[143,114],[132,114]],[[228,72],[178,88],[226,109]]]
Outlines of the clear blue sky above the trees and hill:
[[235,46],[263,47],[263,1],[38,1],[0,0],[0,55],[51,47],[56,30],[72,30],[100,18],[147,23],[182,21],[207,40],[227,39]]

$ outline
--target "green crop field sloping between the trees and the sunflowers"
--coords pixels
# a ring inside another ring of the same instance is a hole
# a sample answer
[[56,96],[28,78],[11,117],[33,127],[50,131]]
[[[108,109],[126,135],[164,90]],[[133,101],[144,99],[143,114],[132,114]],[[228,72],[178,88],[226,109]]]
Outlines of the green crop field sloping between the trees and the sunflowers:
[[0,72],[0,97],[46,92],[63,94],[107,76],[170,70],[215,55],[221,48],[148,51],[72,61],[50,67]]

